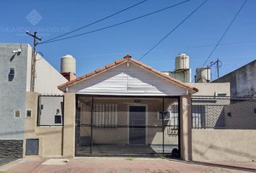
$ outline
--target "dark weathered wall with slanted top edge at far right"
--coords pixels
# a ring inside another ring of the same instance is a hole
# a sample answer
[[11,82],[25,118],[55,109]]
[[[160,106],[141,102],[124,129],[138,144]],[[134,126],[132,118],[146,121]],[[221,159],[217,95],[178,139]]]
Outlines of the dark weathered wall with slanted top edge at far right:
[[230,83],[231,97],[256,97],[256,60],[221,76],[212,83]]

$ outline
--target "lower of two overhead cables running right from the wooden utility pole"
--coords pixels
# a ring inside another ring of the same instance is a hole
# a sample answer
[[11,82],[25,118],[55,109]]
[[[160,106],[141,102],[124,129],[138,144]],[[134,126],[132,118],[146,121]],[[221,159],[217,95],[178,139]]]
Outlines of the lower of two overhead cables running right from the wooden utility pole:
[[111,27],[116,27],[116,26],[119,26],[119,25],[123,25],[123,24],[125,24],[125,23],[132,22],[132,21],[134,21],[134,20],[136,20],[136,19],[140,19],[140,18],[143,18],[143,17],[147,17],[147,16],[150,16],[150,15],[155,14],[155,13],[158,13],[158,12],[162,12],[162,11],[164,11],[164,10],[166,10],[166,9],[171,9],[171,8],[174,7],[174,6],[179,6],[179,5],[184,4],[184,3],[188,2],[188,1],[191,1],[191,0],[182,1],[182,2],[180,2],[180,3],[178,3],[178,4],[174,4],[174,5],[171,5],[171,6],[167,6],[166,8],[163,8],[163,9],[158,9],[158,10],[155,11],[155,12],[150,12],[150,13],[144,14],[144,15],[142,15],[142,16],[140,16],[140,17],[135,17],[135,18],[133,18],[133,19],[129,19],[129,20],[126,20],[126,21],[124,21],[124,22],[120,22],[120,23],[117,23],[117,24],[114,24],[114,25],[109,25],[109,26],[107,26],[107,27],[101,27],[100,29],[97,29],[97,30],[92,30],[92,31],[88,31],[88,32],[83,32],[83,33],[78,34],[78,35],[72,35],[72,36],[69,36],[69,37],[64,37],[64,38],[60,38],[60,39],[57,39],[57,40],[51,40],[51,41],[48,41],[48,42],[42,42],[42,43],[38,43],[38,44],[53,43],[53,42],[56,42],[56,41],[67,40],[67,39],[72,38],[72,37],[79,37],[79,36],[87,35],[87,34],[90,34],[90,33],[93,33],[93,32],[98,32],[98,31],[101,31],[101,30],[106,30],[106,29],[111,28]]

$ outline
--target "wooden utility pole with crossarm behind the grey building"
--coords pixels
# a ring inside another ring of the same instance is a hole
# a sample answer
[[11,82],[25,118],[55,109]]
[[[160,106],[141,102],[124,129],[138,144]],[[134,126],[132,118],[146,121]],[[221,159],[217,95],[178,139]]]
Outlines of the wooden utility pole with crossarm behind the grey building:
[[31,83],[30,83],[30,91],[34,92],[35,90],[35,58],[36,58],[36,51],[35,47],[38,45],[37,40],[42,40],[41,37],[37,37],[36,34],[38,32],[34,32],[34,34],[30,34],[30,32],[26,31],[27,35],[33,37],[33,53],[32,53],[32,63],[31,63]]

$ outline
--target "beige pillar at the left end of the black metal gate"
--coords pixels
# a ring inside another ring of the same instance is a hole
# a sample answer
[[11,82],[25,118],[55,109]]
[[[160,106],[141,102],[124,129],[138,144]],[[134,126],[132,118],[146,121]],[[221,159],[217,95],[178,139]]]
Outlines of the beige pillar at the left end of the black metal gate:
[[74,157],[75,94],[64,94],[63,156]]

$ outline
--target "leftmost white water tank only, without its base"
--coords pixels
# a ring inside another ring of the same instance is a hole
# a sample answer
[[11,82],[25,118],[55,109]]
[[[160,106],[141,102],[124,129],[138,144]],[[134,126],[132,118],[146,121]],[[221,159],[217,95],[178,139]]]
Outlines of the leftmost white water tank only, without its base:
[[61,74],[62,73],[76,73],[76,61],[73,56],[66,55],[61,57]]

